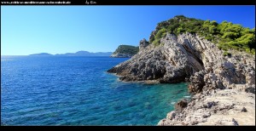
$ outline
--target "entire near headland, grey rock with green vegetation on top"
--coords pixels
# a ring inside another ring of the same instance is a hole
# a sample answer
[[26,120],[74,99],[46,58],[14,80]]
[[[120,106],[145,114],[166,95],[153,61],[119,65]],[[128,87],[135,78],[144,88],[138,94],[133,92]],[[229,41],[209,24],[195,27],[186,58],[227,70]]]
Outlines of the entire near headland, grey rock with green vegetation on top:
[[[235,27],[241,30],[230,32]],[[194,96],[177,102],[158,125],[255,125],[253,37],[255,29],[176,16],[160,22],[150,43],[143,39],[137,54],[108,72],[125,82],[189,83]]]

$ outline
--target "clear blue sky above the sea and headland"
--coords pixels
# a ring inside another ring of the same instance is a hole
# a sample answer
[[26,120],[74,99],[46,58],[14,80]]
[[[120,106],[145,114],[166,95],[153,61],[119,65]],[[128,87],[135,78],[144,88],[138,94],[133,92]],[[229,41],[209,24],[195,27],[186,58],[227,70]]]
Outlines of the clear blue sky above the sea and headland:
[[180,14],[255,27],[255,6],[1,6],[1,55],[113,52]]

